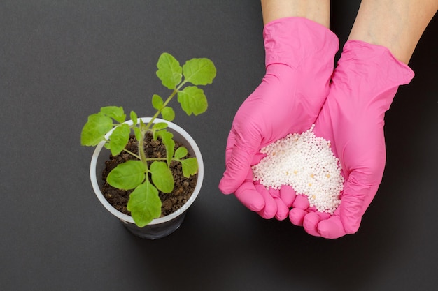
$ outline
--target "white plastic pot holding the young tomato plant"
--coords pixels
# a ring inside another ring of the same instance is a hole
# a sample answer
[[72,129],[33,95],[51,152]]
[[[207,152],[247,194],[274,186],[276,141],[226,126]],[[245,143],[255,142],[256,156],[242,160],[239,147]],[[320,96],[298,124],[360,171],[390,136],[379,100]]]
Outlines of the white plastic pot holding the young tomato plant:
[[[143,117],[141,120],[147,124],[150,121],[150,117]],[[138,237],[144,239],[160,239],[162,237],[166,237],[171,234],[175,230],[180,227],[181,223],[183,223],[185,217],[185,211],[192,205],[192,203],[197,198],[199,191],[201,190],[202,180],[204,179],[204,163],[202,161],[201,151],[192,137],[180,126],[177,126],[170,121],[165,121],[163,119],[155,119],[156,123],[158,122],[166,122],[168,124],[167,130],[174,134],[174,140],[181,142],[187,147],[188,152],[191,156],[197,158],[198,161],[198,173],[197,173],[197,184],[195,187],[195,191],[192,193],[190,199],[185,202],[183,207],[178,209],[172,214],[168,216],[164,216],[162,218],[155,218],[145,227],[138,227],[131,216],[123,214],[118,211],[111,204],[106,201],[104,195],[101,193],[101,186],[103,186],[104,181],[101,179],[101,174],[105,167],[105,161],[108,160],[110,151],[104,147],[105,142],[101,142],[97,145],[96,149],[94,149],[94,153],[91,159],[90,164],[90,179],[91,184],[96,194],[97,198],[101,202],[104,207],[113,214],[113,216],[120,219],[123,225],[127,227],[127,229],[135,234]],[[127,124],[132,124],[132,121],[126,121]],[[107,137],[111,134],[108,133]]]

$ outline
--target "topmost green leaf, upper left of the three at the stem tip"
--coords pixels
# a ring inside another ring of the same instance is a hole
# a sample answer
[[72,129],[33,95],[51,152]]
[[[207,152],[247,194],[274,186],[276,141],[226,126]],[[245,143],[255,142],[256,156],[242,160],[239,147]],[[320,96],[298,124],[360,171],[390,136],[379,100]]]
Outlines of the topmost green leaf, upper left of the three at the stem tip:
[[168,89],[175,89],[176,85],[181,83],[183,68],[171,54],[162,53],[158,59],[157,68],[157,77]]

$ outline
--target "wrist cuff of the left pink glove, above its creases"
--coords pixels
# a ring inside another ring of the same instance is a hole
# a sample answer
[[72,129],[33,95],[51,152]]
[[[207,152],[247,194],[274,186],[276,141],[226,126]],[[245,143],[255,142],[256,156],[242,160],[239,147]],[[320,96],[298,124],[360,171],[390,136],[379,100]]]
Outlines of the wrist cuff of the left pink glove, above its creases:
[[269,22],[263,30],[265,64],[298,68],[307,58],[332,64],[339,49],[337,36],[321,24],[304,17],[284,17]]

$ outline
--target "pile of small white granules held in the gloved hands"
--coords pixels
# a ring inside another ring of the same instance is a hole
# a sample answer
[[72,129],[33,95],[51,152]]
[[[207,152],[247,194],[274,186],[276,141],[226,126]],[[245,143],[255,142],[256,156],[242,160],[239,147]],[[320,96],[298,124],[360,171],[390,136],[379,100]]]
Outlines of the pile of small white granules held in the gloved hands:
[[341,203],[344,177],[330,141],[316,137],[313,128],[262,148],[260,152],[267,156],[253,165],[253,179],[267,188],[292,186],[297,195],[308,197],[310,207],[333,214]]

